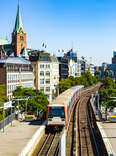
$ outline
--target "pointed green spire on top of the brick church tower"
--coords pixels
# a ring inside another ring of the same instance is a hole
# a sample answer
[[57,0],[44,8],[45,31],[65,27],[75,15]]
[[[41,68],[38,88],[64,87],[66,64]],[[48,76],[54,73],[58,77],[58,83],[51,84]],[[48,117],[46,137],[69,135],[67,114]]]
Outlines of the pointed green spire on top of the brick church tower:
[[19,7],[19,3],[18,3],[14,32],[19,32],[20,29],[23,30],[23,24],[22,24],[22,19],[21,19],[20,7]]

